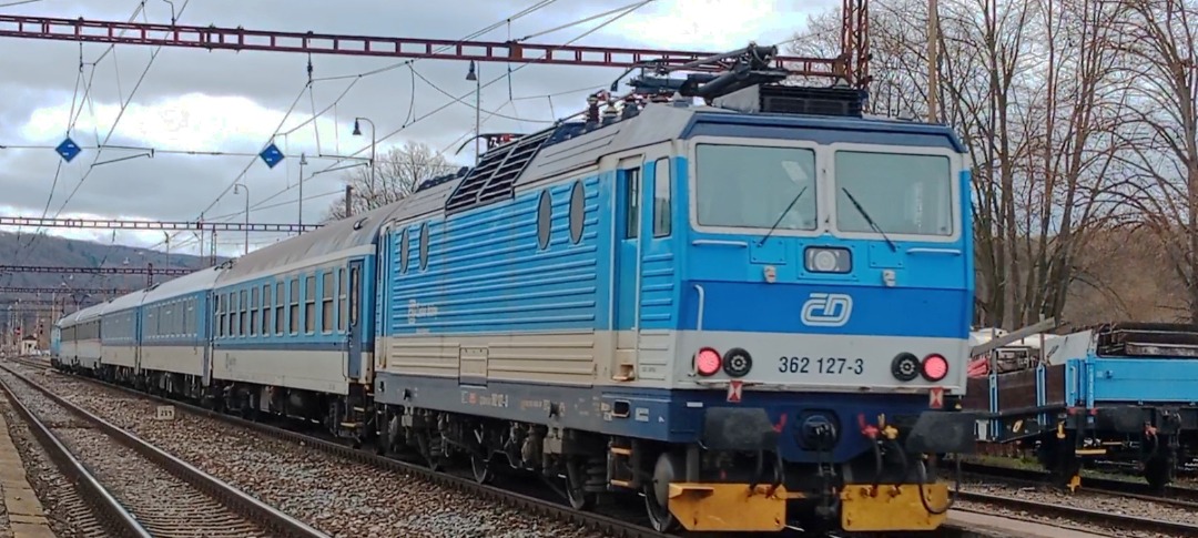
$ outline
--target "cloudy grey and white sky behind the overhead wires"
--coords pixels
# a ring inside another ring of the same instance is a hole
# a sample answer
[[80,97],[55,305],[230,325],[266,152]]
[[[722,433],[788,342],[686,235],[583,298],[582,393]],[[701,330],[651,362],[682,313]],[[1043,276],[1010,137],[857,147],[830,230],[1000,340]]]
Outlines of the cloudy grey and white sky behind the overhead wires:
[[[138,22],[169,23],[173,10],[176,14],[182,10],[179,23],[189,25],[459,40],[536,4],[545,2],[0,0],[0,13],[103,20],[128,20],[135,14]],[[476,38],[537,35],[528,41],[563,43],[611,17],[570,23],[630,4],[552,1]],[[778,43],[801,29],[810,13],[839,6],[835,0],[654,0],[576,44],[719,52],[751,40]],[[380,138],[395,133],[379,143],[380,152],[415,140],[446,151],[455,162],[473,161],[471,149],[453,155],[473,131],[474,83],[465,80],[467,62],[419,60],[411,68],[355,77],[401,60],[317,55],[311,58],[315,83],[309,91],[309,59],[303,54],[163,48],[151,62],[152,47],[108,49],[84,44],[80,72],[78,43],[0,37],[0,214],[38,217],[48,207],[48,216],[74,218],[194,220],[204,212],[208,220],[242,220],[244,194],[231,189],[241,181],[250,192],[250,220],[294,223],[300,212],[301,153],[307,155],[305,177],[355,163],[337,156],[369,156],[368,126],[363,125],[365,137],[351,135],[355,116],[373,120]],[[532,65],[507,78],[508,68],[506,64],[480,66],[483,84],[495,80],[482,91],[484,131],[537,129],[580,109],[587,92],[609,85],[621,72]],[[450,99],[432,85],[468,98],[434,113]],[[488,119],[490,111],[513,119]],[[52,149],[68,129],[84,152],[63,163]],[[289,156],[274,169],[253,157],[272,135]],[[97,151],[105,139],[105,147]],[[145,149],[155,150],[152,158]],[[305,223],[322,218],[338,199],[339,174],[344,173],[333,170],[304,181]],[[50,234],[114,241],[109,230],[56,229]],[[240,253],[242,238],[241,234],[219,237],[222,254]],[[278,238],[252,236],[252,247]],[[163,241],[159,231],[115,235],[121,244],[162,249]],[[194,253],[195,242],[190,234],[179,235],[171,240],[171,250]]]

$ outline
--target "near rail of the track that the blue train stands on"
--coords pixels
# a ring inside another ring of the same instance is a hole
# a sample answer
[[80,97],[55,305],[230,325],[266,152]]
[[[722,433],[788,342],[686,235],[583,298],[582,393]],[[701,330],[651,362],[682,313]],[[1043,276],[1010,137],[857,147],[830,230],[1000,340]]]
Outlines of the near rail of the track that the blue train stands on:
[[[29,358],[17,358],[10,361],[31,365],[35,368],[49,368],[49,363],[29,359]],[[7,369],[7,367],[5,367]],[[643,525],[636,522],[640,516],[633,516],[633,512],[621,510],[618,513],[594,513],[594,512],[579,512],[575,510],[556,500],[543,498],[539,496],[530,495],[520,490],[504,489],[490,484],[478,484],[472,478],[437,472],[428,469],[426,466],[397,460],[393,458],[386,458],[362,449],[356,449],[349,445],[343,445],[340,442],[331,441],[328,439],[322,439],[313,436],[305,433],[292,431],[290,429],[284,429],[274,427],[271,424],[265,424],[260,422],[248,421],[240,417],[234,417],[224,413],[219,413],[208,409],[204,409],[189,403],[168,399],[153,394],[146,394],[143,392],[133,391],[127,387],[107,383],[99,380],[90,377],[73,376],[81,381],[87,381],[103,387],[108,387],[115,391],[120,391],[126,394],[132,394],[138,398],[158,401],[162,404],[169,404],[184,412],[217,419],[224,423],[234,424],[241,428],[246,428],[259,434],[274,437],[278,440],[288,441],[291,443],[303,445],[308,448],[320,451],[326,454],[337,455],[350,461],[357,461],[361,464],[369,465],[375,469],[398,471],[407,474],[415,474],[434,484],[444,486],[447,489],[468,494],[488,502],[494,502],[496,504],[502,504],[519,509],[521,512],[541,515],[551,518],[555,520],[561,520],[571,524],[576,527],[585,527],[595,532],[604,533],[606,536],[616,538],[673,538],[673,534],[660,533],[648,528]]]

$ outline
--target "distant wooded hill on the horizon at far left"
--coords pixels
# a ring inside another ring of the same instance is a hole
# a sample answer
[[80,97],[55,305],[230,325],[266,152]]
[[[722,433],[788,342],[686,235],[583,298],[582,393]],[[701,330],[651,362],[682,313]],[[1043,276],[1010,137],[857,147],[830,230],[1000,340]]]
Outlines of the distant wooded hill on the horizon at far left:
[[[170,254],[168,264],[167,253],[150,250],[138,247],[126,247],[122,244],[104,244],[90,241],[68,240],[42,235],[36,238],[32,247],[24,247],[34,238],[30,234],[17,234],[0,231],[0,265],[18,266],[66,266],[66,267],[146,267],[153,264],[158,268],[201,268],[208,265],[207,259],[186,254]],[[22,247],[18,247],[20,244]],[[217,260],[223,261],[223,259]],[[127,264],[127,265],[126,265]],[[169,277],[155,276],[155,282],[169,280]],[[66,286],[62,285],[66,283]],[[146,286],[144,274],[58,274],[58,273],[4,273],[0,272],[0,288],[54,288],[67,289],[117,289],[135,290]],[[0,292],[0,310],[12,304],[13,300],[38,300],[29,294],[2,294]],[[104,296],[84,297],[75,294],[73,300],[84,306],[101,302]],[[50,300],[43,296],[41,300]],[[29,306],[25,308],[35,308]],[[47,306],[48,308],[48,306]],[[0,320],[2,321],[2,320]]]

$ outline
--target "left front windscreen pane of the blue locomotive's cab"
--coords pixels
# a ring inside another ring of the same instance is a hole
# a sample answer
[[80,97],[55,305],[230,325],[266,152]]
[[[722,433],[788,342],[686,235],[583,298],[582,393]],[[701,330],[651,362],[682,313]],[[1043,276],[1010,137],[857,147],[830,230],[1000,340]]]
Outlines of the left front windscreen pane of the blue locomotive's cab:
[[695,156],[700,225],[816,229],[815,151],[700,144]]

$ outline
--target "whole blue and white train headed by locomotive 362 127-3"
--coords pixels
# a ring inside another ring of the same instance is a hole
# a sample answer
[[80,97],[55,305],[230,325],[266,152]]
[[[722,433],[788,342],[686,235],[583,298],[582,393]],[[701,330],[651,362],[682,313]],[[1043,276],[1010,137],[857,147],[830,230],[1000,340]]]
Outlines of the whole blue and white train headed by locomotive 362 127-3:
[[[642,78],[652,102],[592,98],[583,121],[206,270],[174,295],[202,312],[177,386],[479,480],[530,470],[580,509],[641,495],[659,530],[936,528],[936,457],[974,447],[952,411],[964,149],[861,117],[855,90],[778,84],[774,53]],[[676,92],[710,104],[659,98]],[[144,382],[165,367],[140,343]]]

